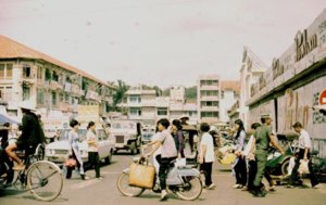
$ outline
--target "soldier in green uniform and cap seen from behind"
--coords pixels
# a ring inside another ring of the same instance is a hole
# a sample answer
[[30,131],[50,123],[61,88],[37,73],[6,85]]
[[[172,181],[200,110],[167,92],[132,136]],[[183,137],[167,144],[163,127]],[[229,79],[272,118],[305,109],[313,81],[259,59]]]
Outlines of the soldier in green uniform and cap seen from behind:
[[254,156],[258,164],[258,172],[253,181],[254,188],[251,193],[254,196],[264,197],[266,192],[262,191],[262,179],[265,174],[269,143],[272,143],[277,150],[279,150],[281,154],[284,154],[284,151],[278,146],[275,136],[272,131],[271,116],[268,114],[262,115],[261,121],[263,125],[256,129],[256,132],[254,133],[254,143],[251,148],[251,152],[253,153],[255,145]]

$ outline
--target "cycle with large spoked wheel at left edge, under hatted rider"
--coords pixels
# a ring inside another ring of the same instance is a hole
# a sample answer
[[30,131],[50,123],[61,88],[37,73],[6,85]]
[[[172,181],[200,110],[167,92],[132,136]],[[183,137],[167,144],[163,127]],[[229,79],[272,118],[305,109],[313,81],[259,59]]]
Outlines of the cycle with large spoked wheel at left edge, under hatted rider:
[[[34,149],[17,153],[23,157],[25,168],[17,171],[16,177],[11,172],[8,163],[2,166],[0,188],[14,188],[17,191],[30,191],[34,197],[40,201],[53,201],[59,196],[63,187],[61,169],[54,163],[43,161],[45,146],[38,144]],[[4,172],[4,174],[3,174]]]

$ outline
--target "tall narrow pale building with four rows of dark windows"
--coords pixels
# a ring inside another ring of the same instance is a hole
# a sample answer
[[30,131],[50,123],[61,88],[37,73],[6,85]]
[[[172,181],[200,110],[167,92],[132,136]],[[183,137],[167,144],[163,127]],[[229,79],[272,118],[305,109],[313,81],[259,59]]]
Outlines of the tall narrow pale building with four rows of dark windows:
[[218,123],[221,100],[220,76],[200,76],[197,90],[198,116],[200,121],[210,124]]

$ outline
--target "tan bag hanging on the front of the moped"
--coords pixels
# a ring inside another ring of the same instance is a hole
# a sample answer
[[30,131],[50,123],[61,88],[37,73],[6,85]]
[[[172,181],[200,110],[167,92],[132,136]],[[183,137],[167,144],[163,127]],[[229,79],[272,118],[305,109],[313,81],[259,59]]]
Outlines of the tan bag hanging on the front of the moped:
[[133,163],[129,166],[129,185],[152,189],[154,185],[155,167],[138,163]]

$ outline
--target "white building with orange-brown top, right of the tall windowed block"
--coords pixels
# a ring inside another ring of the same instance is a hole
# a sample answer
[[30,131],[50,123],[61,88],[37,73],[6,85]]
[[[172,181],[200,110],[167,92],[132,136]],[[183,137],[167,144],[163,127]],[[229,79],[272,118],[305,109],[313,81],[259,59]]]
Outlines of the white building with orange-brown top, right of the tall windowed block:
[[240,82],[236,80],[221,81],[220,120],[228,123],[228,111],[239,100]]

